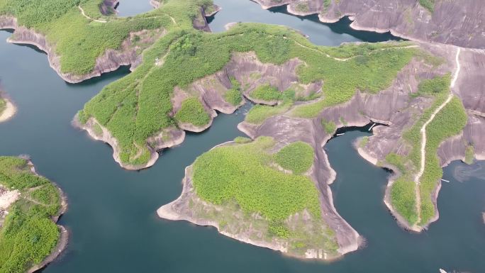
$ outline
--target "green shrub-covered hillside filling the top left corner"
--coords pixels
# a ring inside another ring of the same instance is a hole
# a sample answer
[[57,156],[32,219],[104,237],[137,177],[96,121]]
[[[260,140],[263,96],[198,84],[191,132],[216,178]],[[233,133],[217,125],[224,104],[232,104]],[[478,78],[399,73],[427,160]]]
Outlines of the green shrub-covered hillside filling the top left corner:
[[[102,1],[0,0],[0,16],[16,17],[18,25],[45,35],[60,55],[61,72],[79,75],[91,72],[96,58],[107,49],[120,48],[130,32],[190,28],[199,6],[210,3],[208,0],[166,1],[164,9],[118,18],[101,14]],[[83,16],[82,11],[90,18]]]

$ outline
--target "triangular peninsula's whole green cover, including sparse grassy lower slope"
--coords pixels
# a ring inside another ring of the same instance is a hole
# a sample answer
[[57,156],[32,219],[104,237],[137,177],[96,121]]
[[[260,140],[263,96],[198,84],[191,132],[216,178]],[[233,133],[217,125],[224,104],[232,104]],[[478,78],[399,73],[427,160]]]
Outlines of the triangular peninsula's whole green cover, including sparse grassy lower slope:
[[[282,239],[289,253],[302,255],[313,248],[335,254],[338,244],[321,216],[315,184],[304,175],[281,172],[274,164],[301,173],[313,164],[313,148],[297,142],[272,155],[268,150],[273,145],[270,137],[238,139],[198,157],[192,172],[194,191],[211,205],[192,199],[194,213],[217,221],[228,233],[252,233],[267,242]],[[290,152],[295,152],[293,160]],[[216,212],[211,213],[213,206]]]

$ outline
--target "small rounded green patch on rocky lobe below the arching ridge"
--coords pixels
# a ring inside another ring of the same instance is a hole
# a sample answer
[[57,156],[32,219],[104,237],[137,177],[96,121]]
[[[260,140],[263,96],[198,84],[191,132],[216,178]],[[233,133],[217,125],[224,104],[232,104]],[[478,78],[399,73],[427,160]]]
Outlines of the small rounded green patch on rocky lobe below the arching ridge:
[[181,123],[191,123],[194,126],[206,126],[211,121],[201,101],[196,97],[190,97],[182,101],[182,106],[175,114],[175,119]]

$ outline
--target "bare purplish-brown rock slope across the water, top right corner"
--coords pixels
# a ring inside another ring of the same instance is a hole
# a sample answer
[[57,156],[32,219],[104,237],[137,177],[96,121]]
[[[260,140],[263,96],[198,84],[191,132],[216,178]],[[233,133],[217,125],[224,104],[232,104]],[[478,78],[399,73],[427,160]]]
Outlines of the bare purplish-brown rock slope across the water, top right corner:
[[485,6],[481,0],[435,1],[433,14],[416,0],[256,0],[264,9],[289,4],[298,15],[317,13],[320,21],[335,22],[353,16],[352,28],[386,32],[413,40],[433,41],[465,48],[485,48]]

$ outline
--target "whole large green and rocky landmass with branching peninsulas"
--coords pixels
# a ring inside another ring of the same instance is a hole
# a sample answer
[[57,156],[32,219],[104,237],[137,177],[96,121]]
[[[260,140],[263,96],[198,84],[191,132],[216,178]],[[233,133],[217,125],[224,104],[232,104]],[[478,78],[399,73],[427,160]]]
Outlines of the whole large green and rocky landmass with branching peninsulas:
[[[161,217],[213,225],[297,257],[357,250],[358,233],[333,207],[334,174],[322,146],[339,127],[380,121],[398,137],[377,133],[359,150],[396,170],[386,204],[411,230],[435,219],[437,149],[467,123],[450,90],[459,71],[456,48],[410,41],[323,47],[260,23],[208,33],[199,30],[204,15],[217,8],[207,0],[162,1],[130,18],[106,9],[99,0],[0,0],[0,26],[17,29],[13,41],[42,37],[51,65],[72,82],[113,69],[104,63],[132,65],[74,118],[113,147],[122,167],[150,167],[158,151],[182,143],[185,130],[211,126],[216,111],[257,104],[239,126],[250,139],[201,155],[186,169],[182,196],[160,208]],[[131,57],[118,60],[122,55]],[[395,113],[406,119],[394,121]],[[371,155],[376,143],[391,148]]]

